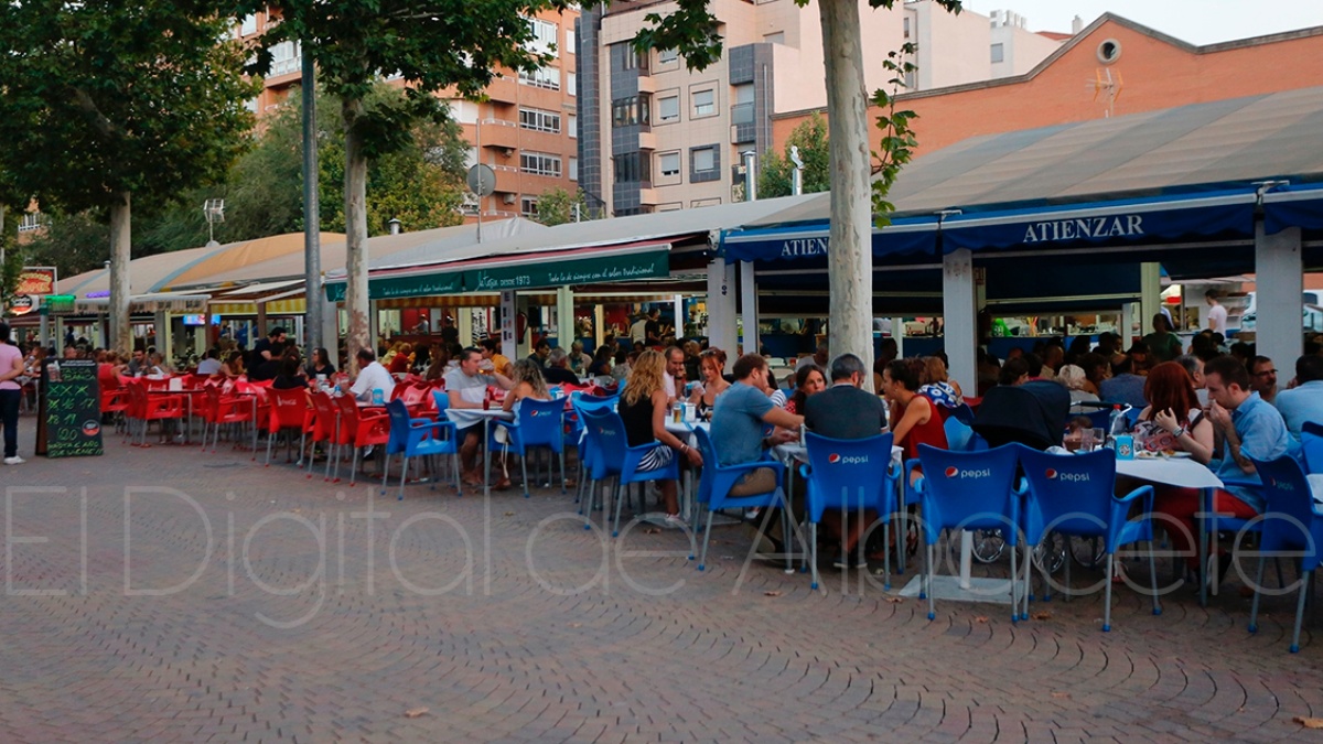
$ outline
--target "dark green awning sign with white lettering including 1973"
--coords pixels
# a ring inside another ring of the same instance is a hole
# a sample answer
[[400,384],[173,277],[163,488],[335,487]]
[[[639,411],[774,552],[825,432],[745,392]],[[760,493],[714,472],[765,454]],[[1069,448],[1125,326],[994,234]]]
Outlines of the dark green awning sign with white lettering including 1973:
[[667,252],[651,250],[627,256],[471,269],[464,271],[464,289],[468,291],[523,290],[669,275],[671,262]]

